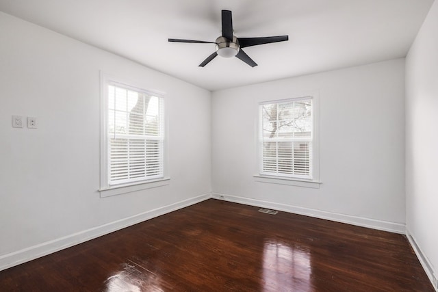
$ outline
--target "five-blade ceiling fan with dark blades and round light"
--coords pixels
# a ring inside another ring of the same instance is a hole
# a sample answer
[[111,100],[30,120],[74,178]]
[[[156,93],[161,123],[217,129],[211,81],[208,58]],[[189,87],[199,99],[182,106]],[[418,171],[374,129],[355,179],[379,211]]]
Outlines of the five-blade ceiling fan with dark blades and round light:
[[222,10],[222,36],[216,38],[215,42],[205,42],[203,40],[181,40],[169,38],[169,42],[193,42],[198,44],[216,44],[216,51],[205,59],[200,67],[207,65],[217,55],[221,57],[237,57],[251,67],[257,66],[242,48],[257,46],[257,44],[269,44],[271,42],[283,42],[289,40],[289,36],[266,36],[261,38],[237,38],[233,36],[233,18],[231,11]]

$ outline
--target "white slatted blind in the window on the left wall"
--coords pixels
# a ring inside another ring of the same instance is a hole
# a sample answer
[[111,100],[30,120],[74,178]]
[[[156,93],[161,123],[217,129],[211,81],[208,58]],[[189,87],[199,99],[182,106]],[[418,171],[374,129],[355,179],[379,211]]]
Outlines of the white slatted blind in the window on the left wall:
[[107,84],[107,183],[164,176],[164,101],[136,88]]

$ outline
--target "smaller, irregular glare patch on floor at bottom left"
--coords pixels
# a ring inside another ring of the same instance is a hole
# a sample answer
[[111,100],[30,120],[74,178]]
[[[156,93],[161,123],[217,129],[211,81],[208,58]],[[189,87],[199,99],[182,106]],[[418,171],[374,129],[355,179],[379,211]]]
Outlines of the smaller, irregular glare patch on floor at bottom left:
[[105,281],[105,292],[163,292],[159,287],[159,276],[142,270],[136,263],[124,263],[123,269]]

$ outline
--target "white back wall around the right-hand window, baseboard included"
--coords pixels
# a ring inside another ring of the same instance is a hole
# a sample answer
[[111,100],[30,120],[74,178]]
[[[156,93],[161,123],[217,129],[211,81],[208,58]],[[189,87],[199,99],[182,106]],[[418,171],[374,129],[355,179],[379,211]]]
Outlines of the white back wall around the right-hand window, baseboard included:
[[[257,103],[319,91],[320,189],[255,181]],[[404,233],[404,59],[213,93],[218,198]]]

